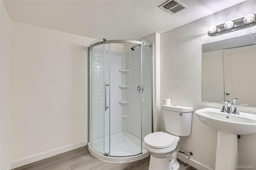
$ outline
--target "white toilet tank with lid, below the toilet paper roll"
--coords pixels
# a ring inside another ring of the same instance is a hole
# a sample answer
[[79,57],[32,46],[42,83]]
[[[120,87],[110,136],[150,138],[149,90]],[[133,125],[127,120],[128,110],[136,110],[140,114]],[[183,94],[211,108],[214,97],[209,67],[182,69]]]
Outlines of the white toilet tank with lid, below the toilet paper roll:
[[162,105],[164,128],[166,132],[177,136],[188,136],[191,133],[192,107]]

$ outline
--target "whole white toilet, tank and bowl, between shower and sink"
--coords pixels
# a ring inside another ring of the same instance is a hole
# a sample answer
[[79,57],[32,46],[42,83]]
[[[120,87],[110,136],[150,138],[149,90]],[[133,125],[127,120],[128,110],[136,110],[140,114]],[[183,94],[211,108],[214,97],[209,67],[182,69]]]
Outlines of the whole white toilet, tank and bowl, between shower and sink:
[[143,146],[150,155],[149,170],[178,170],[178,142],[181,136],[191,132],[192,107],[162,105],[166,132],[154,132],[145,136]]

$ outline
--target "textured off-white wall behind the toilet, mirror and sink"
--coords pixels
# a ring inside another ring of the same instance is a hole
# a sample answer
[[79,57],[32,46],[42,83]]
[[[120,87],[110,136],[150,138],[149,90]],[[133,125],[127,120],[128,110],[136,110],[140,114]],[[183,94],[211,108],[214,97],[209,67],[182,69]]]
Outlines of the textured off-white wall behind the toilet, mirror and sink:
[[[207,105],[221,109],[221,105],[201,101],[202,44],[255,33],[256,26],[215,37],[207,35],[209,26],[255,14],[255,6],[255,0],[247,0],[161,34],[161,99],[171,98],[172,104],[193,107],[194,111]],[[185,162],[198,169],[214,169],[216,139],[217,132],[201,123],[193,112],[191,135],[180,141],[181,151],[193,153]],[[242,135],[238,140],[239,165],[256,166],[255,141],[256,134]]]

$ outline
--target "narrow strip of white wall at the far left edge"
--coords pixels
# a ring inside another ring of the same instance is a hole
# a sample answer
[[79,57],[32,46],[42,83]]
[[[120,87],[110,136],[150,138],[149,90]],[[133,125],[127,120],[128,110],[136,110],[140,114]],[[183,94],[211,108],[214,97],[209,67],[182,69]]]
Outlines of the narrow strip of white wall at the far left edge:
[[10,166],[10,68],[12,22],[0,1],[0,169]]

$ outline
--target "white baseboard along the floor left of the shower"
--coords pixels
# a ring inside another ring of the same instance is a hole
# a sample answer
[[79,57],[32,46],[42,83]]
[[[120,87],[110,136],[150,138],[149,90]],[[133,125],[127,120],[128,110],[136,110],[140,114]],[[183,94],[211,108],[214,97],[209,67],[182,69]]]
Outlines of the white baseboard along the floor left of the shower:
[[30,156],[28,158],[24,158],[24,159],[18,160],[16,162],[12,162],[10,164],[9,170],[14,169],[14,168],[18,168],[20,166],[24,166],[26,164],[30,164],[32,162],[36,162],[38,160],[49,158],[51,156],[62,154],[64,152],[68,152],[70,150],[74,150],[74,149],[77,149],[77,148],[80,148],[80,147],[86,146],[86,145],[87,145],[87,140],[82,141],[82,142],[78,142],[78,143],[75,143],[75,144],[71,144],[71,145],[68,145],[68,146],[64,146],[64,147],[61,147],[61,148],[57,148],[57,149],[54,149],[54,150],[50,150],[50,151],[47,151],[47,152],[43,152],[41,154],[36,154],[34,156]]

